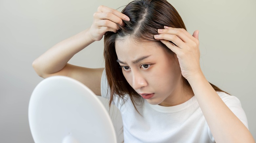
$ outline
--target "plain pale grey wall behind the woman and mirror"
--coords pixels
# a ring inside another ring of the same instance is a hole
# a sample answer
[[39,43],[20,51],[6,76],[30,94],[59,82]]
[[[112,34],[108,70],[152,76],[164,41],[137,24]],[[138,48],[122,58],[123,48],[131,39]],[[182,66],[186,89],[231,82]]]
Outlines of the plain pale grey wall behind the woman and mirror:
[[[57,42],[90,27],[99,5],[128,0],[0,1],[0,142],[33,142],[28,104],[42,80],[32,61]],[[240,99],[256,138],[256,1],[169,0],[189,33],[199,29],[201,67],[209,82]],[[104,67],[103,41],[75,55],[71,64]]]

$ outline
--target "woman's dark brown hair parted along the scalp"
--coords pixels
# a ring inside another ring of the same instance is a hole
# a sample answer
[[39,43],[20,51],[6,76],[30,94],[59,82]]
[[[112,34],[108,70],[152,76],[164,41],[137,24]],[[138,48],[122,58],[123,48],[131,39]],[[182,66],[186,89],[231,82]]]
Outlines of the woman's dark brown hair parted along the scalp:
[[[127,15],[130,21],[123,21],[125,26],[119,25],[117,33],[106,32],[104,35],[105,70],[110,87],[109,105],[111,105],[114,96],[124,99],[124,95],[127,94],[135,107],[134,98],[141,97],[128,84],[122,69],[119,68],[120,65],[117,63],[115,49],[116,40],[123,40],[129,37],[136,41],[155,41],[169,53],[175,54],[160,40],[154,39],[154,35],[158,34],[157,29],[163,29],[164,26],[183,28],[185,30],[186,27],[177,10],[166,0],[135,0],[130,2],[122,10],[122,13]],[[184,83],[190,87],[188,81],[185,78],[183,79]],[[216,91],[222,91],[214,85],[212,87]]]

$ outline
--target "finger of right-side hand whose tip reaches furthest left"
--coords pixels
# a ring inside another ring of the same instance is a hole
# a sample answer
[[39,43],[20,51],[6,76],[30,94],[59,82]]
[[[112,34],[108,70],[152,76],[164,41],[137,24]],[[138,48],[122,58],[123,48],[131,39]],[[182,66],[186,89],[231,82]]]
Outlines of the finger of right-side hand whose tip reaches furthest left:
[[155,35],[154,38],[157,39],[157,40],[172,41],[174,44],[176,44],[181,49],[183,49],[186,45],[177,35],[159,34],[159,35]]

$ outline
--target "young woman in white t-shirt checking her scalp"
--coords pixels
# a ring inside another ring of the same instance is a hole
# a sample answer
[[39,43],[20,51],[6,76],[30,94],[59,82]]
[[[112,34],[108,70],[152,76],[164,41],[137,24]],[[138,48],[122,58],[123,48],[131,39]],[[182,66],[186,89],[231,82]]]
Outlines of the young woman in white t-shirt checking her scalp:
[[[103,35],[105,69],[67,63]],[[43,78],[69,76],[109,98],[122,114],[125,142],[255,142],[240,101],[205,79],[198,35],[166,0],[136,0],[122,13],[100,6],[89,29],[33,67]]]

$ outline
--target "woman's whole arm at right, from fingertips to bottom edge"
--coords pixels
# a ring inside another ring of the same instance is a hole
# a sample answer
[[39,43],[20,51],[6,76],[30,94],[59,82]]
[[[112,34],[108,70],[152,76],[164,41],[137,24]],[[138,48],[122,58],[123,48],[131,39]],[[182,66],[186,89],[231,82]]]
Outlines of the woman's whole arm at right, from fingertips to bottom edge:
[[161,40],[176,53],[181,73],[191,85],[215,141],[255,142],[249,130],[226,106],[204,77],[199,62],[199,31],[195,31],[191,36],[184,29],[165,26],[165,29],[159,30],[158,33],[155,39]]

